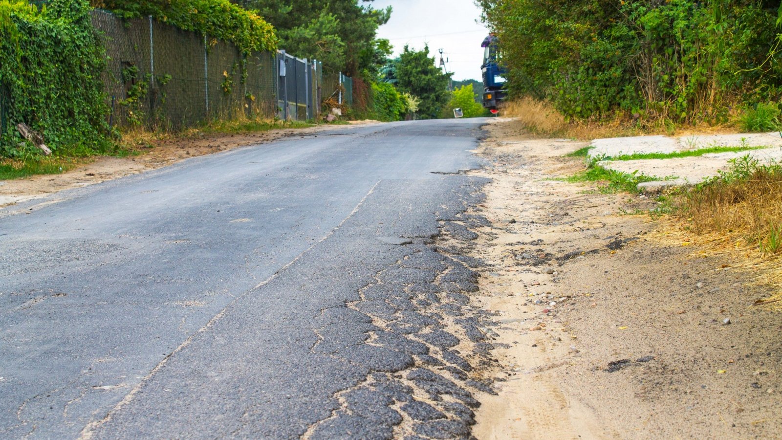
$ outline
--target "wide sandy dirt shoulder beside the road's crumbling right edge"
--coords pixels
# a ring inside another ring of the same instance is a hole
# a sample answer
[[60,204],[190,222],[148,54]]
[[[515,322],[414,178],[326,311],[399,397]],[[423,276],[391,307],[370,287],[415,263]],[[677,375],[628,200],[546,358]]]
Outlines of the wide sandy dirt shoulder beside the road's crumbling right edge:
[[[584,143],[490,126],[474,256],[500,326],[477,438],[777,438],[782,316],[750,274],[651,237],[655,202],[554,180]],[[729,321],[726,321],[728,319]],[[729,322],[729,323],[728,323]]]

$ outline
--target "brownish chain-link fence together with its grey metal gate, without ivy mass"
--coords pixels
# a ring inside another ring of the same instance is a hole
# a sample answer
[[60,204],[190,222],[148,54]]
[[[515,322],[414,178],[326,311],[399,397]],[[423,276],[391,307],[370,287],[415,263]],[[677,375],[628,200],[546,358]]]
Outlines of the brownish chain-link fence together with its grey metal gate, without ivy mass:
[[[240,116],[313,120],[338,88],[325,84],[320,62],[284,51],[247,55],[152,17],[124,20],[101,9],[91,12],[91,21],[106,49],[101,79],[113,126],[177,129]],[[339,74],[338,82],[348,85],[350,78]],[[10,97],[0,85],[0,136],[13,122]]]

